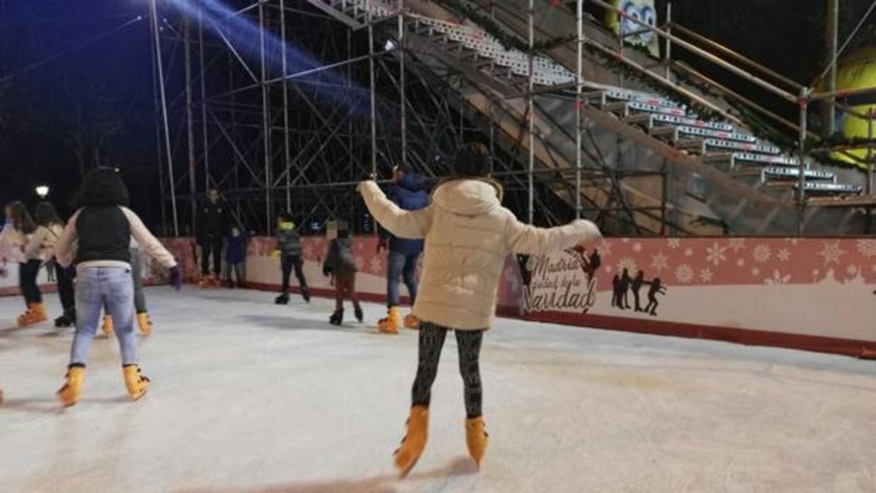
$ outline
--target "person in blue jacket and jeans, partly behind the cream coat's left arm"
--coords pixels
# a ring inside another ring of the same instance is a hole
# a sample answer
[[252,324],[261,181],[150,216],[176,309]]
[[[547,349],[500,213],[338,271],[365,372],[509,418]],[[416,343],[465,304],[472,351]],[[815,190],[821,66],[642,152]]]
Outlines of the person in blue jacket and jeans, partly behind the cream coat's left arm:
[[[428,181],[420,173],[414,173],[413,168],[401,164],[392,168],[392,180],[395,184],[390,188],[387,198],[405,210],[420,210],[429,203],[427,193]],[[413,300],[417,297],[417,261],[423,252],[423,240],[411,240],[392,236],[385,229],[380,230],[378,251],[389,248],[388,268],[386,272],[386,306],[388,315],[378,321],[378,330],[385,334],[398,334],[402,324],[399,309],[399,281],[404,279],[408,295]],[[405,327],[420,327],[420,320],[413,314],[404,319]]]

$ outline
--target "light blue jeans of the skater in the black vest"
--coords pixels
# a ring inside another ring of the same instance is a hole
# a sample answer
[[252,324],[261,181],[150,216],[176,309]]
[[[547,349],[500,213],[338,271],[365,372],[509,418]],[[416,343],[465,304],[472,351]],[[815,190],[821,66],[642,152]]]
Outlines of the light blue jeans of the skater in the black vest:
[[131,269],[119,267],[90,267],[79,272],[76,278],[76,335],[70,350],[70,363],[88,363],[91,340],[101,321],[104,305],[112,316],[122,364],[137,364],[134,282]]

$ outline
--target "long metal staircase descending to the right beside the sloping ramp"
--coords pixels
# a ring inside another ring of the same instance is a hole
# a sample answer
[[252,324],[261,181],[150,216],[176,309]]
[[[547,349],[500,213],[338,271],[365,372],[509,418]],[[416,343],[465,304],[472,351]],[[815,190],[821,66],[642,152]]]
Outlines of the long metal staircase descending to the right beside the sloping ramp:
[[[394,5],[382,0],[308,2],[357,29],[369,20],[398,15]],[[406,11],[405,18],[410,26],[405,42],[414,56],[428,67],[452,68],[464,75],[453,82],[461,101],[489,112],[489,118],[498,119],[508,136],[521,135],[520,130],[533,118],[537,134],[533,151],[539,165],[563,170],[575,167],[576,74],[548,57],[533,57],[532,79],[540,94],[533,97],[535,114],[528,115],[519,94],[526,90],[530,77],[529,55],[505,48],[477,25],[453,24],[414,11]],[[589,166],[668,174],[669,184],[662,190],[646,180],[624,184],[622,193],[632,206],[655,206],[661,201],[660,193],[668,194],[675,222],[686,225],[679,229],[691,234],[714,233],[714,229],[697,229],[696,224],[715,222],[723,222],[737,234],[795,233],[798,158],[783,154],[738,122],[704,121],[666,97],[595,82],[585,85]],[[515,143],[527,144],[524,138]],[[824,196],[843,203],[861,194],[862,185],[840,181],[839,173],[811,159],[805,168],[805,189],[814,197],[809,199],[813,206],[805,209],[805,231],[836,235],[860,228],[860,211],[823,207],[824,201],[819,202],[821,207],[814,204]],[[594,204],[611,196],[594,184],[581,191]],[[633,221],[653,233],[662,228],[653,214],[637,213]]]

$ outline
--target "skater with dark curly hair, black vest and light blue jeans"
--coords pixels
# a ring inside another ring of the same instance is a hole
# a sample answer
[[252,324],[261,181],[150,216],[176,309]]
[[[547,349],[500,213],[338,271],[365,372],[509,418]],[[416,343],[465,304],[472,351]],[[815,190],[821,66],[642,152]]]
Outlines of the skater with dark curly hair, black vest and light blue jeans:
[[[128,206],[128,191],[112,168],[97,168],[83,180],[74,213],[64,229],[55,254],[62,266],[76,266],[76,334],[67,367],[67,382],[58,391],[63,405],[74,405],[82,391],[85,365],[101,310],[106,305],[122,356],[122,374],[128,395],[137,400],[149,389],[140,375],[137,337],[134,335],[134,283],[131,278],[131,236],[148,255],[170,270],[177,290],[182,273],[173,255],[146,229]],[[78,241],[75,251],[71,248]]]

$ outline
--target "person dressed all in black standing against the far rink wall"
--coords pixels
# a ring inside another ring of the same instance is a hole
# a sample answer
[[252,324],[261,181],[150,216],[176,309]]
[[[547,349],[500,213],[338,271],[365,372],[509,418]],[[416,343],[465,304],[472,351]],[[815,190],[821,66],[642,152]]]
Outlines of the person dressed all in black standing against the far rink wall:
[[[201,287],[219,285],[222,274],[222,246],[228,233],[228,207],[219,201],[219,191],[211,188],[207,201],[198,209],[197,241],[201,246]],[[213,271],[210,271],[213,257]]]

